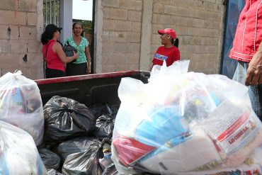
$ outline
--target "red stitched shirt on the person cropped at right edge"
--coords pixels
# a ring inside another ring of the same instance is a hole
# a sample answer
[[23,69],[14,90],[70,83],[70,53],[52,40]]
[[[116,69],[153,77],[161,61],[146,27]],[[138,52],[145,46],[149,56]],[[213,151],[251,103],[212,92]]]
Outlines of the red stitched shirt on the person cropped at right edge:
[[262,1],[246,0],[229,57],[250,62],[262,40]]

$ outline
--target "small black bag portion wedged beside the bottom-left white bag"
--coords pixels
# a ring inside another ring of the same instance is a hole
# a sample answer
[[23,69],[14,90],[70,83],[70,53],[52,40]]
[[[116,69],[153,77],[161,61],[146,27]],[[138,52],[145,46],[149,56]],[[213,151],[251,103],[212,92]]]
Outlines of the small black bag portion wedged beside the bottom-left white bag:
[[55,152],[50,151],[46,148],[38,149],[42,162],[45,164],[47,170],[55,169],[58,170],[60,166],[60,157]]

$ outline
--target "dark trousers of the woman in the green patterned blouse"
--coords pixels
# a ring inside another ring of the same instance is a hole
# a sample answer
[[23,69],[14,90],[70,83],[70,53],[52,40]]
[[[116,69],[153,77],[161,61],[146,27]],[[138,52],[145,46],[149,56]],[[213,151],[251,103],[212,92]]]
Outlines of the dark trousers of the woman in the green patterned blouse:
[[74,76],[74,75],[83,75],[86,74],[87,69],[87,63],[80,63],[80,64],[74,64],[74,63],[67,63],[67,76]]

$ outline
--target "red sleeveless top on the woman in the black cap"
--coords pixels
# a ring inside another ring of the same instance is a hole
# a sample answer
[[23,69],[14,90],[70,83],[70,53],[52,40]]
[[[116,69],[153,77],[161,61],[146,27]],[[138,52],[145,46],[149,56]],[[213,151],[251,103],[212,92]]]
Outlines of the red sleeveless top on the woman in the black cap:
[[[57,53],[52,50],[56,40],[49,40],[47,44],[42,46],[42,55],[44,55],[49,69],[58,69],[65,72],[65,65],[58,57]],[[48,47],[48,48],[47,48]],[[47,52],[46,52],[47,51]],[[45,55],[45,53],[47,55]]]

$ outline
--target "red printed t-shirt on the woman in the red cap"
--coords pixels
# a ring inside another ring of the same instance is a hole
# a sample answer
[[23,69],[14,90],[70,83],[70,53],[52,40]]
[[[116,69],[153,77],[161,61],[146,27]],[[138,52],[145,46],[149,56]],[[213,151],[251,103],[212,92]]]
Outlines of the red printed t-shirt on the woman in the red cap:
[[173,62],[180,60],[180,52],[178,47],[173,46],[170,48],[165,48],[164,46],[159,47],[154,54],[153,66],[163,65],[164,60],[166,60],[166,66],[170,66]]

